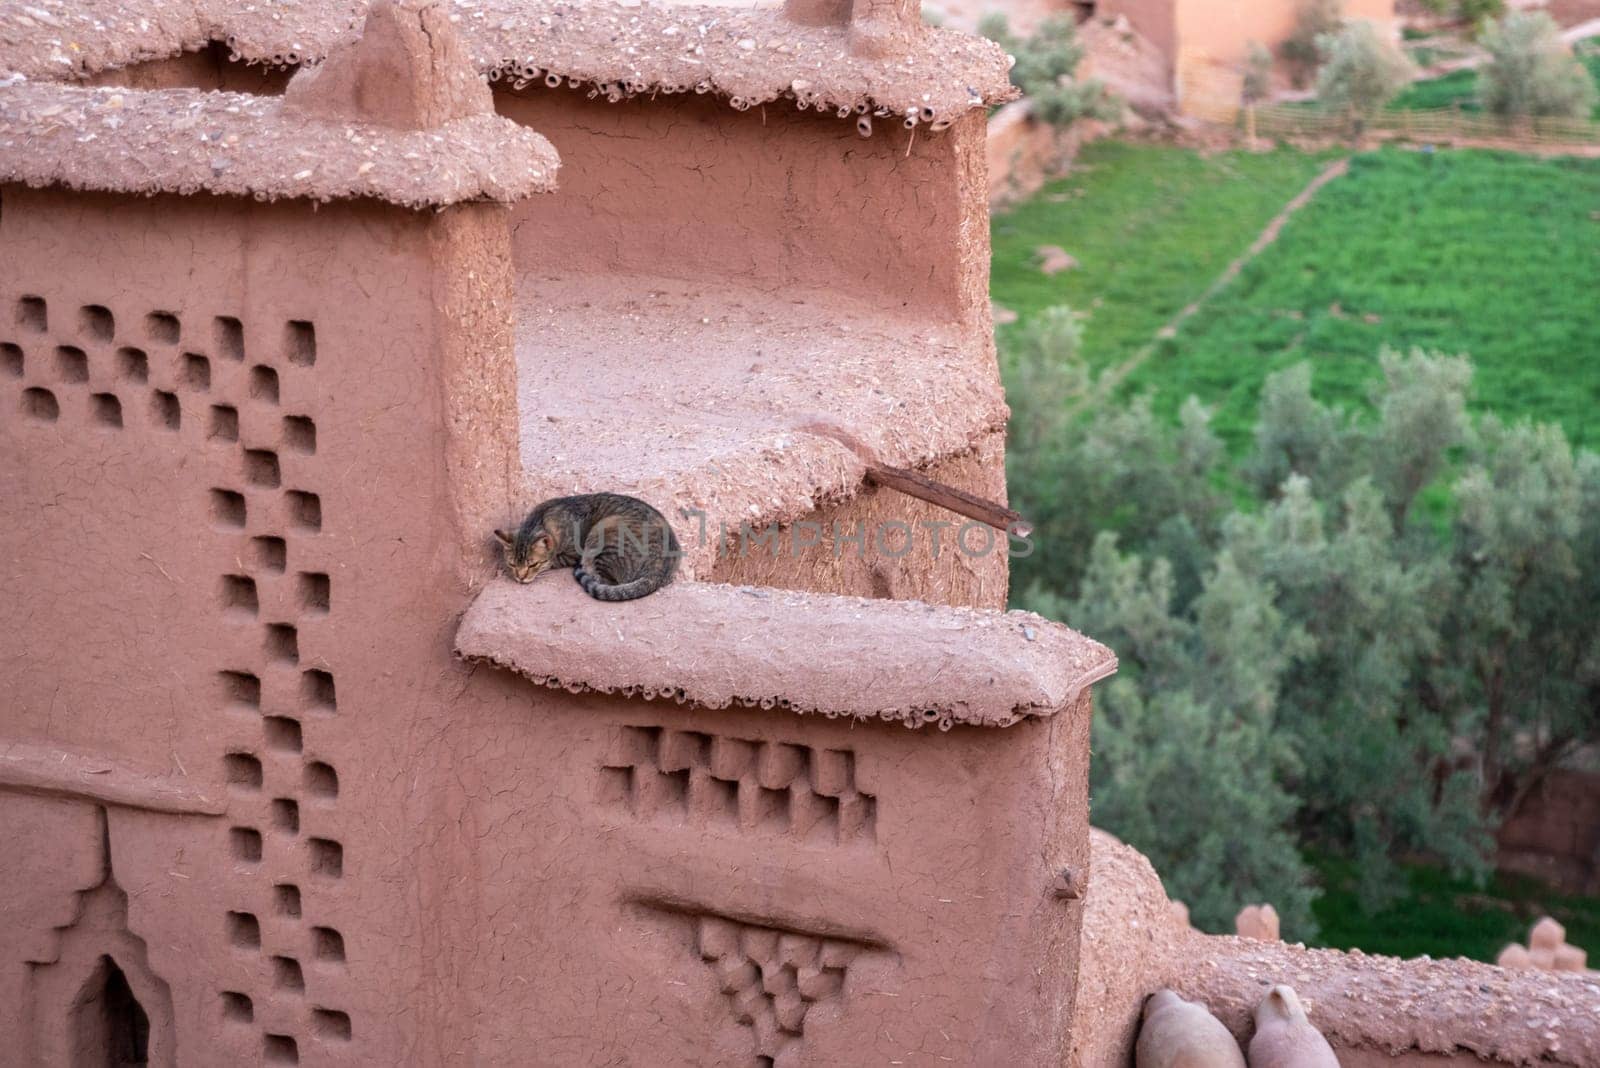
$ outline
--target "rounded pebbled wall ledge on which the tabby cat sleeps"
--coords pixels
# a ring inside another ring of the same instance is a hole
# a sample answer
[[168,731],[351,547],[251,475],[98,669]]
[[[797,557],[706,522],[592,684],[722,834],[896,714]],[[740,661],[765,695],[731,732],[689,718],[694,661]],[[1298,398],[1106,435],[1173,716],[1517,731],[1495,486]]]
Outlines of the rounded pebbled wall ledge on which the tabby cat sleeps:
[[944,729],[1054,715],[1117,670],[1110,649],[1032,612],[698,582],[605,603],[565,571],[490,584],[456,652],[571,692]]

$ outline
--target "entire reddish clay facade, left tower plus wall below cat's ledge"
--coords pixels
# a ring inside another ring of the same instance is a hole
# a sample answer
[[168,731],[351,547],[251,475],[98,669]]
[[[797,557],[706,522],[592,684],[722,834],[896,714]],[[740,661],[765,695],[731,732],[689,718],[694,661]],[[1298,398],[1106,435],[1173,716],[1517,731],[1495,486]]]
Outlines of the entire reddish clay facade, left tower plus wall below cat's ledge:
[[504,219],[5,190],[6,1033],[78,1041],[109,958],[152,1063],[1048,1058],[1086,697],[912,732],[451,657],[518,488]]

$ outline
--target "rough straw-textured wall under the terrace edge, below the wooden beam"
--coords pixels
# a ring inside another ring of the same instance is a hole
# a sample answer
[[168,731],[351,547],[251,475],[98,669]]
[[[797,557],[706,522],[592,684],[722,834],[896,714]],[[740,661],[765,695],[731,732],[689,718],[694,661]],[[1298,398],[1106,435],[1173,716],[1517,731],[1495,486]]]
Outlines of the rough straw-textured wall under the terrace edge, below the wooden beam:
[[[989,435],[968,456],[934,464],[925,473],[1003,502],[1005,435]],[[963,516],[925,500],[877,488],[819,508],[802,523],[821,524],[821,531],[802,531],[794,524],[752,531],[747,540],[733,532],[709,580],[1005,609],[1006,539],[982,524],[968,524]],[[854,532],[858,524],[866,531],[864,548],[856,542],[835,544],[834,531]],[[768,534],[771,548],[765,540]],[[818,536],[819,544],[805,544]],[[1016,547],[1026,552],[1021,544]]]

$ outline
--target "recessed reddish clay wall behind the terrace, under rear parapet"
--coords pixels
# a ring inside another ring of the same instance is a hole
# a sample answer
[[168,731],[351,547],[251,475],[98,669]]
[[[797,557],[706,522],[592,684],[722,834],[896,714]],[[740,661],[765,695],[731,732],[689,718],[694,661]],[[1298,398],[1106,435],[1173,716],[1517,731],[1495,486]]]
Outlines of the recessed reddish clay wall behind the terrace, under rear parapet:
[[987,325],[981,114],[936,134],[874,118],[862,139],[854,115],[786,101],[741,114],[707,96],[611,104],[542,86],[494,99],[562,153],[560,195],[515,209],[523,272],[696,280]]

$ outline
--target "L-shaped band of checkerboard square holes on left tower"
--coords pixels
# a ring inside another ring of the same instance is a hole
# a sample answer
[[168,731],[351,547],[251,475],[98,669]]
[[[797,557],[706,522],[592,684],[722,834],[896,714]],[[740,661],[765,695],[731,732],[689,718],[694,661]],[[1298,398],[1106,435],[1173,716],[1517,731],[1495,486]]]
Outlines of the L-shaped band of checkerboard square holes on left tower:
[[318,397],[315,365],[307,320],[253,329],[237,315],[0,296],[0,425],[133,449],[176,438],[189,476],[205,478],[194,492],[230,561],[211,588],[234,651],[213,676],[213,715],[230,724],[214,863],[237,875],[214,931],[240,961],[214,996],[267,1063],[299,1063],[307,1044],[333,1049],[354,1030],[339,1004],[344,935],[317,915],[347,855],[330,830],[339,775],[317,740],[338,711],[336,679],[307,654],[307,627],[338,620],[326,558],[307,552],[325,523],[322,441],[302,408]]

